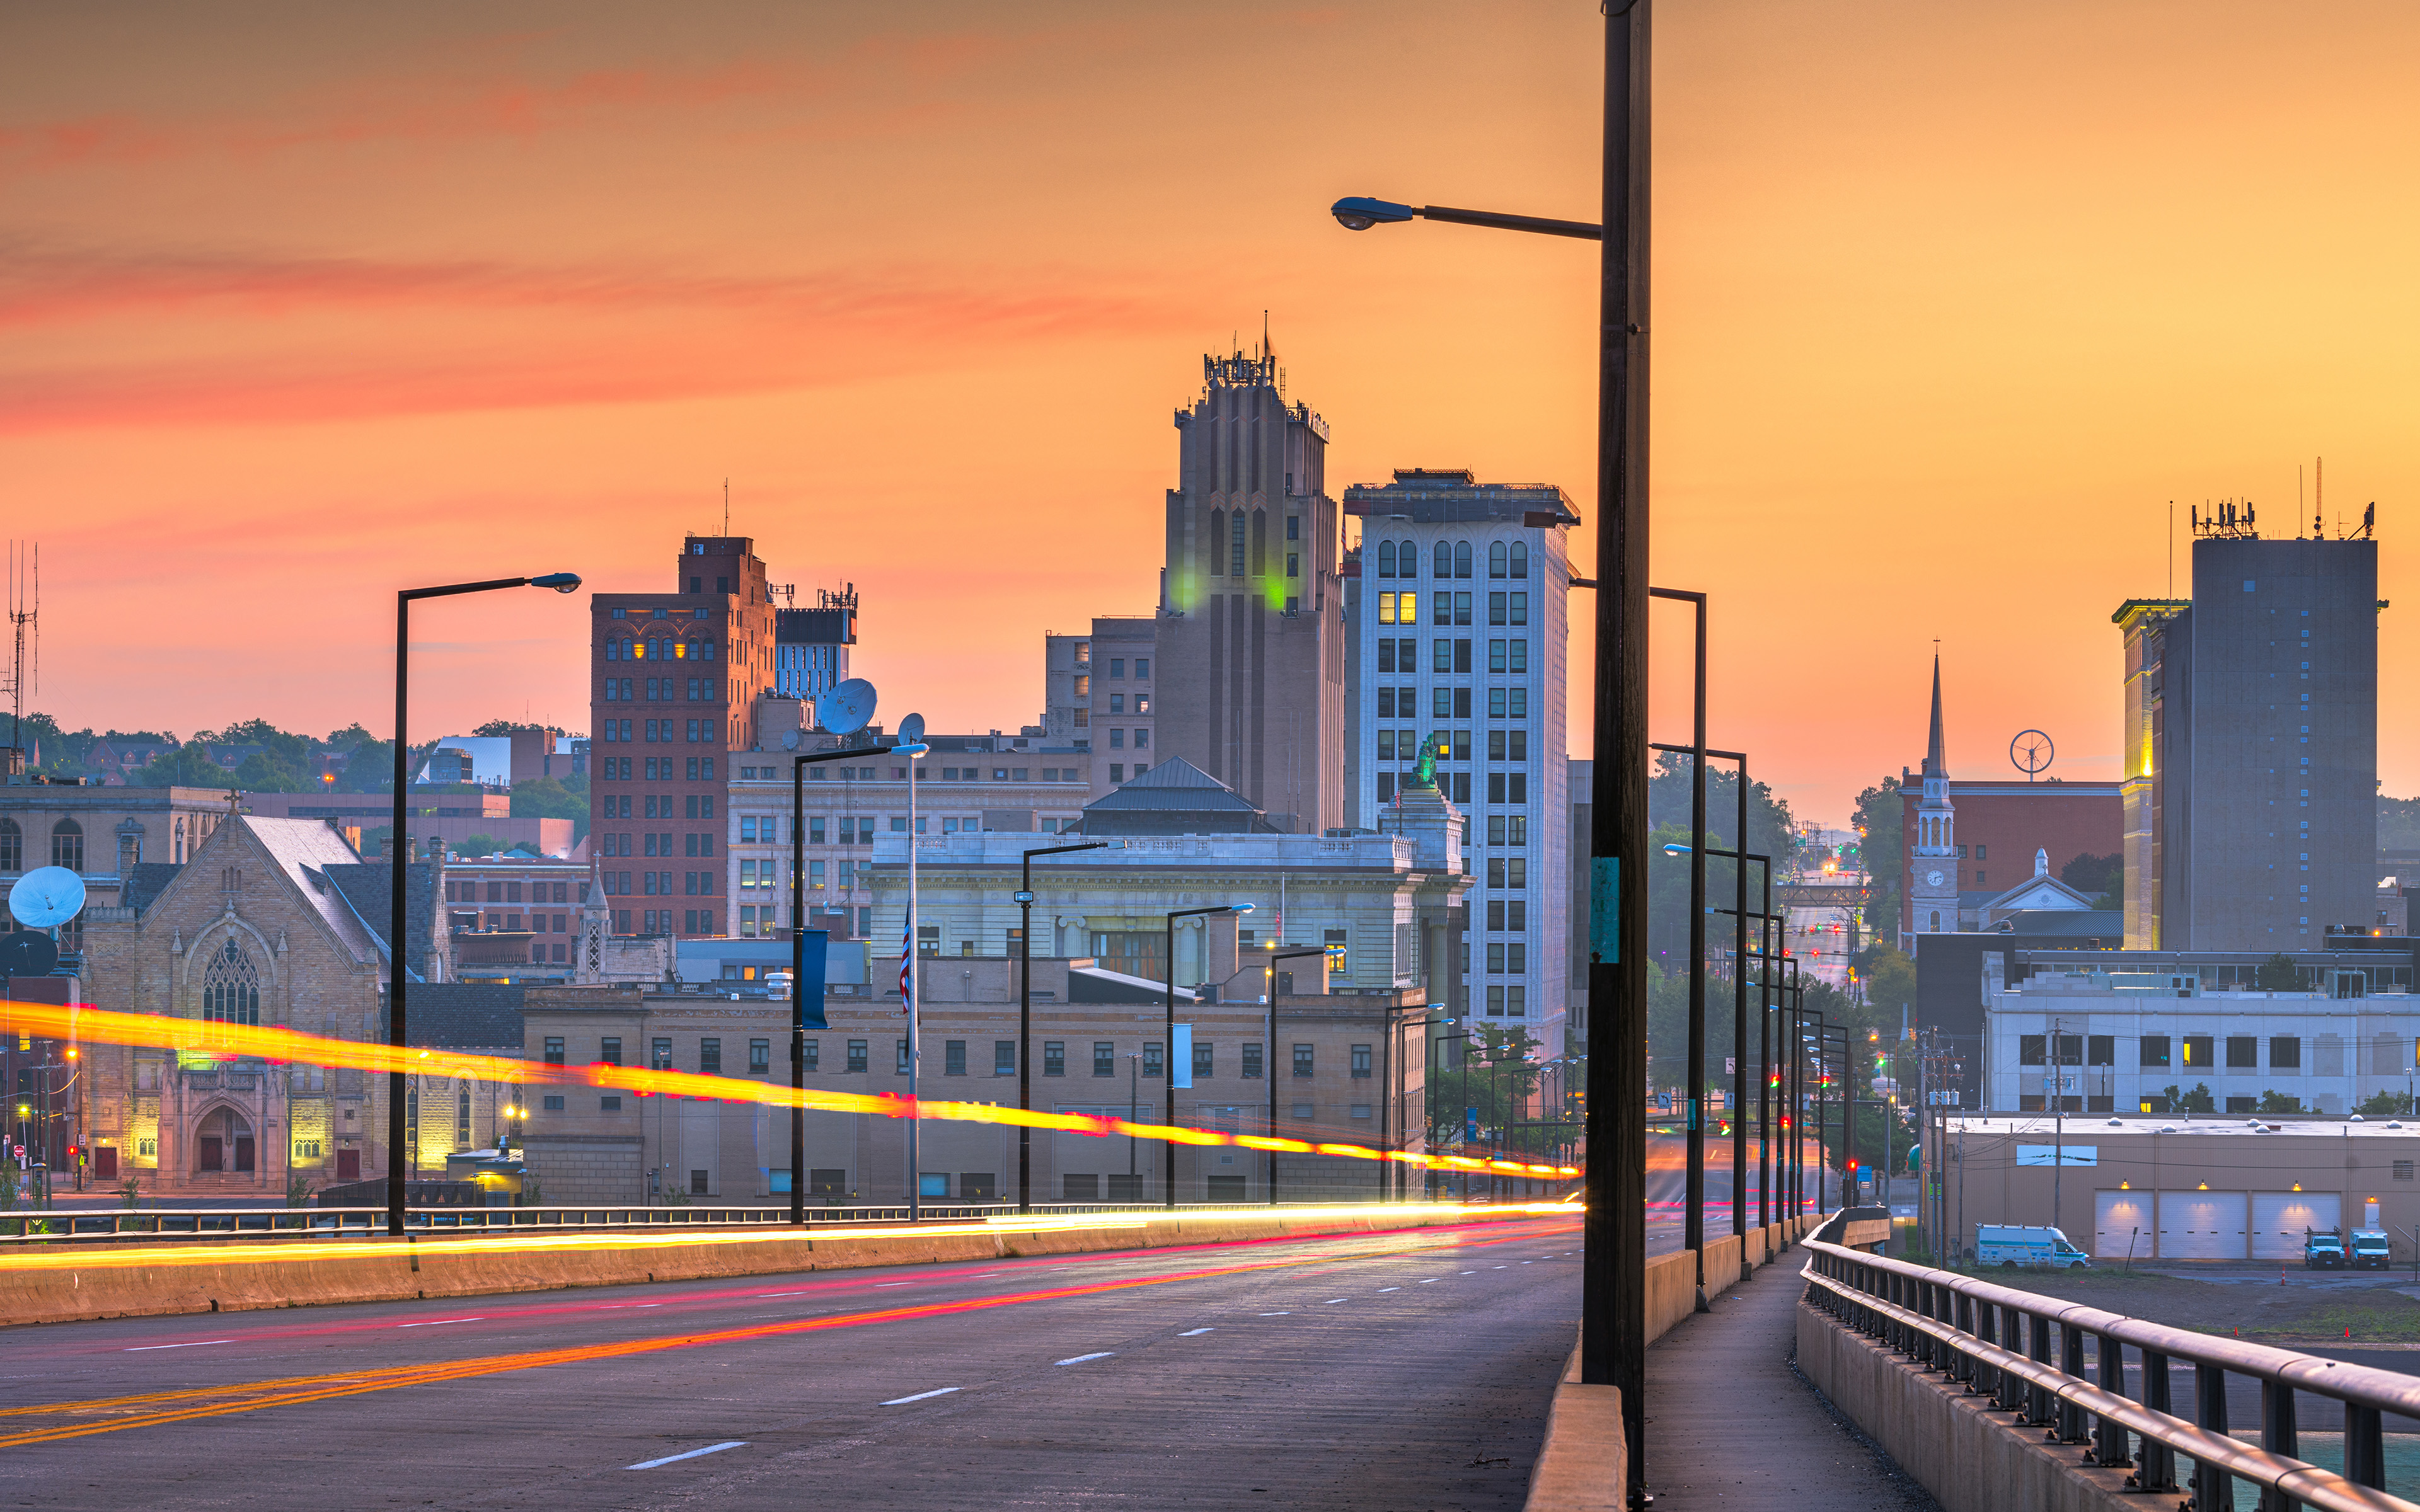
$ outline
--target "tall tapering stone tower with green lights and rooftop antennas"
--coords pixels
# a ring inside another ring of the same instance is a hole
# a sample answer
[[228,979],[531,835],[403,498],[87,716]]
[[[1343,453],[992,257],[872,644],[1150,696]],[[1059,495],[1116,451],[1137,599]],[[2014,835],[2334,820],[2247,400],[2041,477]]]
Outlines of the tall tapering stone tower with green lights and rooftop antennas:
[[1176,411],[1159,602],[1159,760],[1186,757],[1280,830],[1343,825],[1346,627],[1329,426],[1278,358],[1203,358]]

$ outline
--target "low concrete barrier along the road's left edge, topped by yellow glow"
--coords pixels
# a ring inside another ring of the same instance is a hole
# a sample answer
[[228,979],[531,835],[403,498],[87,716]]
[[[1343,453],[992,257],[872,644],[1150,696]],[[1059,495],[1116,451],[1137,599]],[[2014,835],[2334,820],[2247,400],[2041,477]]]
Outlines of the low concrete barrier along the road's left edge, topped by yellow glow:
[[[1384,1234],[1447,1224],[1517,1222],[1527,1212],[1416,1214],[1176,1214],[1140,1224],[917,1234],[845,1229],[794,1236],[765,1229],[702,1231],[692,1241],[644,1234],[499,1239],[278,1241],[10,1256],[0,1323],[75,1323],[160,1314],[252,1311],[419,1297],[486,1297],[675,1280],[724,1280],[799,1270],[1077,1256],[1319,1234]],[[1687,1311],[1687,1306],[1682,1309]]]

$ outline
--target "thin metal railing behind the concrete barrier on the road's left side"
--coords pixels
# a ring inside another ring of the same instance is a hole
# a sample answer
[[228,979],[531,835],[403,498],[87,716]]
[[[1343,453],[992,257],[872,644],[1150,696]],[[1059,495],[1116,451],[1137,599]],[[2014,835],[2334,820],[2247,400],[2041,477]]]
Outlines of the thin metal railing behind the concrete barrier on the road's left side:
[[[1377,1207],[1377,1205],[1372,1205]],[[1268,1212],[1268,1202],[1181,1202],[1176,1212]],[[1280,1205],[1278,1212],[1285,1207]],[[1016,1217],[1014,1202],[924,1205],[927,1219],[983,1222]],[[1036,1214],[1157,1214],[1162,1202],[1036,1202]],[[806,1227],[903,1224],[908,1205],[808,1207]],[[409,1207],[411,1231],[528,1234],[530,1229],[728,1229],[789,1227],[779,1207]],[[29,1241],[87,1239],[378,1239],[387,1229],[385,1207],[167,1207],[167,1210],[51,1210],[0,1212],[0,1248]]]

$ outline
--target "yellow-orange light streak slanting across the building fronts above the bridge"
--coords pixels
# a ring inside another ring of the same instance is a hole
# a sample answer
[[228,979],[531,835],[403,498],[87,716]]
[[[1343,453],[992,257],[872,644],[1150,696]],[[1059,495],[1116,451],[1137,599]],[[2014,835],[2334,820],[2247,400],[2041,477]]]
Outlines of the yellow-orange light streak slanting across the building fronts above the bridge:
[[215,1055],[223,1060],[254,1057],[271,1064],[322,1064],[358,1072],[419,1072],[433,1077],[467,1077],[474,1081],[513,1081],[549,1086],[603,1086],[634,1091],[639,1096],[704,1098],[719,1103],[762,1103],[770,1108],[811,1108],[818,1113],[859,1113],[869,1118],[934,1118],[951,1123],[1004,1123],[1067,1135],[1091,1135],[1106,1139],[1128,1135],[1135,1139],[1159,1139],[1166,1144],[1270,1149],[1278,1154],[1326,1154],[1348,1161],[1396,1161],[1423,1171],[1474,1171],[1500,1176],[1578,1176],[1578,1166],[1542,1166],[1529,1161],[1483,1161],[1462,1154],[1416,1154],[1411,1149],[1370,1149],[1367,1144],[1333,1144],[1312,1139],[1278,1139],[1268,1135],[1225,1135],[1220,1130],[1188,1130],[1162,1123],[1130,1123],[1125,1118],[1094,1118],[1089,1113],[1028,1113],[997,1103],[951,1103],[937,1098],[903,1098],[888,1093],[852,1091],[796,1091],[767,1081],[738,1077],[704,1077],[697,1072],[653,1072],[644,1067],[552,1067],[503,1055],[460,1055],[453,1050],[397,1050],[361,1040],[332,1040],[281,1026],[218,1023],[203,1018],[167,1018],[160,1014],[119,1014],[80,1004],[7,1004],[7,1031],[87,1045],[152,1045]]

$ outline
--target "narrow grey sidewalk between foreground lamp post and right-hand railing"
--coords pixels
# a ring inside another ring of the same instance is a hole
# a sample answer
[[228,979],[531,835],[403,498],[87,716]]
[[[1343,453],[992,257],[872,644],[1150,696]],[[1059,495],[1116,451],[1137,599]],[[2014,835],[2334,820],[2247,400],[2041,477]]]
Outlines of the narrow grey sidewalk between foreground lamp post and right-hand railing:
[[1784,1251],[1648,1350],[1655,1512],[1938,1512],[1791,1369],[1803,1263]]

